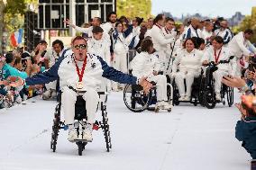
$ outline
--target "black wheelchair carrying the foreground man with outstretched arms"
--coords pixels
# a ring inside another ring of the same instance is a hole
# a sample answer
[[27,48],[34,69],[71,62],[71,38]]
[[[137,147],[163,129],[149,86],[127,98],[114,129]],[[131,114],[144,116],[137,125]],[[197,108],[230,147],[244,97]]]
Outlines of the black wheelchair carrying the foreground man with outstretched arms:
[[[77,94],[77,102],[75,103],[75,127],[77,129],[78,135],[79,131],[83,129],[84,119],[87,120],[87,109],[86,109],[86,101],[83,99],[82,95],[86,93],[86,91],[77,91],[74,90]],[[105,101],[101,99],[101,95],[105,95],[105,92],[98,92],[100,102],[98,103],[98,110],[101,111],[102,121],[96,121],[93,125],[93,130],[102,129],[104,136],[105,136],[105,147],[106,151],[109,152],[110,148],[112,148],[111,138],[110,138],[110,130],[106,112],[106,105]],[[50,140],[50,149],[53,152],[56,151],[57,148],[57,140],[59,136],[59,130],[68,130],[68,125],[65,125],[64,121],[60,120],[60,108],[61,108],[61,93],[59,93],[59,103],[57,104],[54,112],[54,119],[52,125],[52,132],[51,132],[51,140]],[[87,140],[76,140],[76,144],[78,145],[78,155],[82,156],[82,152],[87,145]]]

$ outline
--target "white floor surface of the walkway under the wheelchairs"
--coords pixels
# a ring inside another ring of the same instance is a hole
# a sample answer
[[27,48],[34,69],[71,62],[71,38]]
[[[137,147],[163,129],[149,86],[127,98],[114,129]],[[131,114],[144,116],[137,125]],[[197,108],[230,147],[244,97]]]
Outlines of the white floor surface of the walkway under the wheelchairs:
[[0,111],[0,170],[250,169],[251,157],[234,138],[240,119],[234,106],[219,103],[208,110],[181,103],[170,113],[133,113],[125,107],[123,93],[112,93],[107,103],[112,150],[105,151],[98,130],[79,157],[65,130],[59,131],[56,152],[50,150],[57,103],[40,97],[25,103]]

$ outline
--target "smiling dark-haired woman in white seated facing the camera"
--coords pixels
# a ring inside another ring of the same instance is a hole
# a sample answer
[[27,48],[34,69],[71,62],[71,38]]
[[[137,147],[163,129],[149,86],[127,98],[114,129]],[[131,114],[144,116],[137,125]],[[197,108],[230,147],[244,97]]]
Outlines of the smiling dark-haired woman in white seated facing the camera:
[[[173,61],[171,75],[175,77],[175,82],[178,86],[180,96],[178,100],[190,101],[191,86],[194,78],[200,76],[201,73],[201,58],[203,53],[195,49],[196,41],[194,39],[189,38],[185,40],[184,44],[185,49],[181,49]],[[186,93],[184,80],[186,82]]]

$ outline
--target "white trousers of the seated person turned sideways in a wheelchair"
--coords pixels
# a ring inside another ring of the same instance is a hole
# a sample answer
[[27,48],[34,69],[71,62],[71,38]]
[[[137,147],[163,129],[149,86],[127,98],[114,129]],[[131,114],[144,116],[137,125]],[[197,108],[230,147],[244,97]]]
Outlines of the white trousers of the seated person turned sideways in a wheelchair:
[[168,101],[167,98],[167,79],[164,75],[151,76],[147,78],[148,81],[153,81],[157,86],[157,100]]

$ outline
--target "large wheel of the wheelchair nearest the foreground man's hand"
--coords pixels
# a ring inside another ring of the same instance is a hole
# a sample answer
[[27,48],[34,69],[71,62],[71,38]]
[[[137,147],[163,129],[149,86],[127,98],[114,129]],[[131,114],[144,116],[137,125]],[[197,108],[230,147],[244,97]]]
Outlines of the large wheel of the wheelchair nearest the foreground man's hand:
[[140,85],[125,85],[123,102],[130,111],[143,112],[151,103],[151,91],[144,94]]

